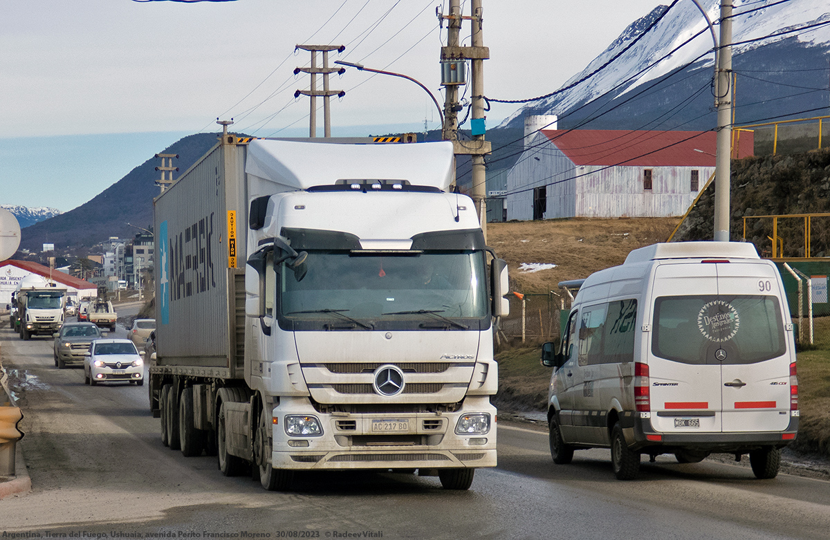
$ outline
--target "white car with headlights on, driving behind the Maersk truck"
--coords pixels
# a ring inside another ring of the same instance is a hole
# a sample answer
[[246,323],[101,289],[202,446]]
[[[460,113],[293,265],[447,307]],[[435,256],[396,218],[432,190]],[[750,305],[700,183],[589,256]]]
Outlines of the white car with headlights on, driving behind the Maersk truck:
[[84,382],[144,384],[144,360],[129,339],[96,339],[84,356]]

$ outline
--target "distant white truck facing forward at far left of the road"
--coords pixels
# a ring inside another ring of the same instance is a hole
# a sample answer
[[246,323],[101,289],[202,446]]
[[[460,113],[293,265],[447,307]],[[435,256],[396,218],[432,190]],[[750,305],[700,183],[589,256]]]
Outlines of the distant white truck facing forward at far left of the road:
[[21,339],[29,339],[37,334],[51,336],[61,328],[66,287],[39,275],[27,275],[17,284],[14,301],[17,304],[17,328]]

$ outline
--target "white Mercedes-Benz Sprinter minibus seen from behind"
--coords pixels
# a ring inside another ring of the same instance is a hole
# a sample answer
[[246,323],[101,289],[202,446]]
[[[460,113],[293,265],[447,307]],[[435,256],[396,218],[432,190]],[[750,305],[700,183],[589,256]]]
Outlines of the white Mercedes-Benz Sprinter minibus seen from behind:
[[792,329],[779,272],[752,244],[632,251],[583,281],[559,352],[543,346],[554,462],[606,447],[632,479],[643,454],[749,454],[774,478],[798,430]]

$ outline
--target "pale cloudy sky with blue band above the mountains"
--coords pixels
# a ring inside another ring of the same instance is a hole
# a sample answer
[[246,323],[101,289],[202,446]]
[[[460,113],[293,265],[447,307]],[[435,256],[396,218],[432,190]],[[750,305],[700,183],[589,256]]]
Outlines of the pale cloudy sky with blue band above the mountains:
[[[482,3],[485,94],[522,99],[559,88],[660,2]],[[307,135],[308,98],[294,99],[310,85],[293,74],[310,63],[302,43],[344,45],[331,61],[404,73],[443,103],[437,7],[446,0],[4,2],[0,203],[71,210],[183,136],[219,129],[217,117],[256,136]],[[464,45],[469,34],[464,22]],[[349,70],[331,88],[346,91],[332,100],[335,136],[438,127],[407,80]],[[494,105],[488,127],[517,108]]]

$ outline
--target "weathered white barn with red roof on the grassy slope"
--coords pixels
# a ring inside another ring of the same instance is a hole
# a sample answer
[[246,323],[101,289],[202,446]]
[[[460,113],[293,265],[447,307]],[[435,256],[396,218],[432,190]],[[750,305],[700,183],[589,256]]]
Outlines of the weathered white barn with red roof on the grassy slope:
[[[543,129],[507,175],[508,220],[682,216],[715,173],[714,131]],[[736,157],[752,155],[743,134]]]

